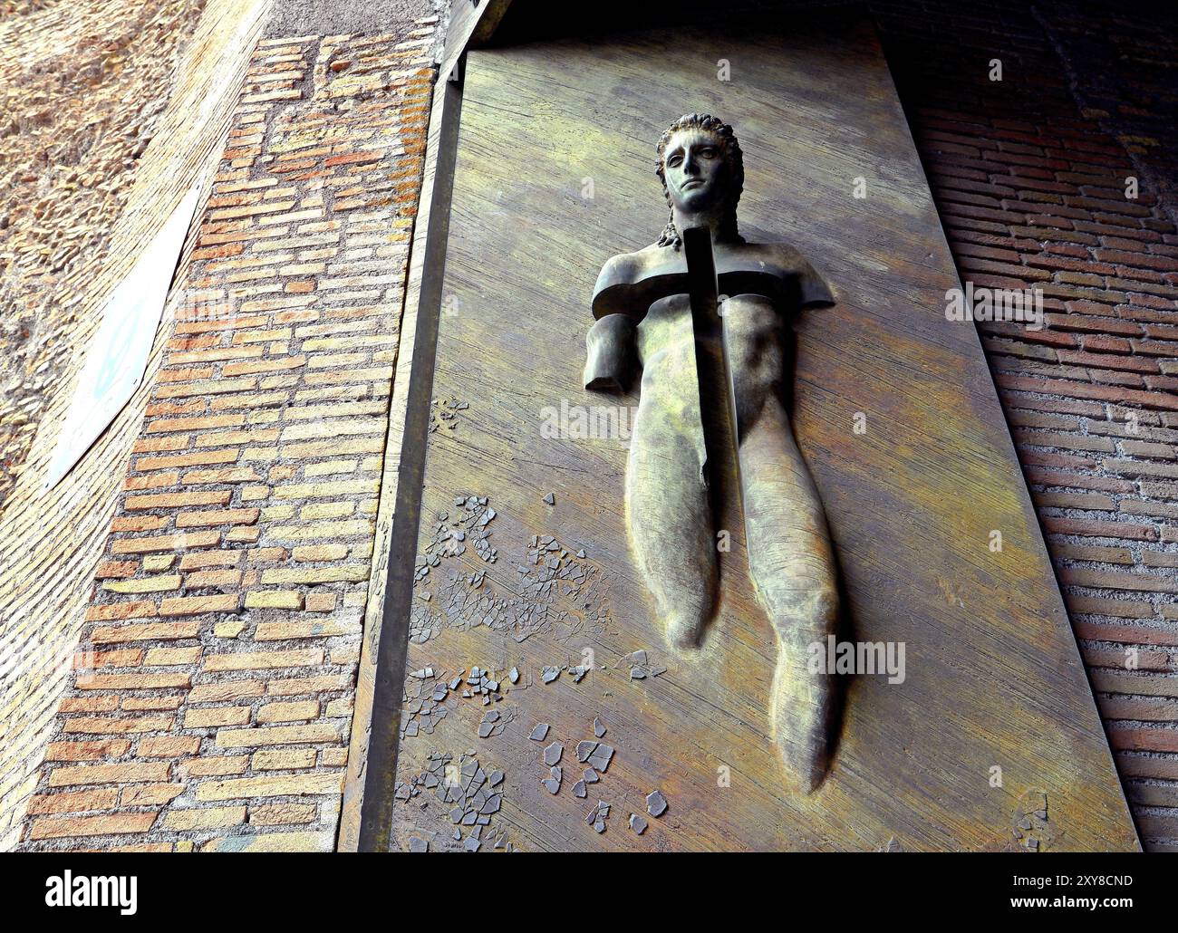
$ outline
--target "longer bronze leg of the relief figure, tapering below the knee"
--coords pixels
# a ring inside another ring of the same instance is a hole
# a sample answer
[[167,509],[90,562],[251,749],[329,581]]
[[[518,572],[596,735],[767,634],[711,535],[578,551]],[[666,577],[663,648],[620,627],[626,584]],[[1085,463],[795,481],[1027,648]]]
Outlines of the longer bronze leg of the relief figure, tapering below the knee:
[[834,677],[812,673],[809,647],[835,634],[839,595],[826,515],[788,416],[770,396],[741,441],[749,574],[777,634],[769,710],[774,741],[798,789],[826,775]]

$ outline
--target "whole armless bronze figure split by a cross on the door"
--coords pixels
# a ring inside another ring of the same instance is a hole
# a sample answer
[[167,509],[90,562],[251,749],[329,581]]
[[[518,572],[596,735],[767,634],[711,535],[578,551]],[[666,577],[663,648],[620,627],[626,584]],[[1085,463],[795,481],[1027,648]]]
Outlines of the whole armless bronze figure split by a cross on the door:
[[670,219],[656,243],[601,270],[584,384],[622,389],[635,356],[641,365],[627,529],[679,651],[700,648],[715,611],[715,497],[737,497],[749,576],[777,638],[772,734],[789,783],[809,793],[829,763],[838,706],[834,673],[809,660],[836,633],[839,590],[786,398],[790,316],[833,298],[794,247],[740,236],[743,158],[730,126],[681,117],[659,141],[656,171]]

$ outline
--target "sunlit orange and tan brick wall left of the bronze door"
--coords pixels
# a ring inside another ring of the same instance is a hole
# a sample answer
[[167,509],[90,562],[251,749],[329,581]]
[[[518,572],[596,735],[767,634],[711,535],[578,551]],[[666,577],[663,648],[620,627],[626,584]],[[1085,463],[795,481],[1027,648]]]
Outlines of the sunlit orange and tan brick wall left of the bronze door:
[[335,843],[435,25],[253,53],[27,848]]

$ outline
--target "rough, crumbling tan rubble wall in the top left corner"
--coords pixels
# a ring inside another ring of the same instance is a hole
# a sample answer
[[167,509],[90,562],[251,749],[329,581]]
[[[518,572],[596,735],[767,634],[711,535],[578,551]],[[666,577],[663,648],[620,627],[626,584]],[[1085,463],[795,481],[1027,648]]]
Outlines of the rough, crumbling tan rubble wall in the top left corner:
[[0,509],[70,366],[204,0],[5,5],[0,16]]

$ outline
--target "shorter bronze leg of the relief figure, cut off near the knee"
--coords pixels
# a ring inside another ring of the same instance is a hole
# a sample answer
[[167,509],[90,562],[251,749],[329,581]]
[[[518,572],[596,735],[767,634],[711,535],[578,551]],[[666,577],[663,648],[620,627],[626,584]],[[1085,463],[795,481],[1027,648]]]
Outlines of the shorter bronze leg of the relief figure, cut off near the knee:
[[694,382],[684,386],[648,360],[626,474],[627,527],[667,641],[676,648],[699,646],[716,595],[699,423]]

